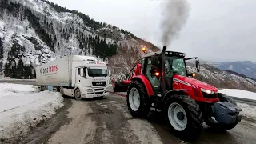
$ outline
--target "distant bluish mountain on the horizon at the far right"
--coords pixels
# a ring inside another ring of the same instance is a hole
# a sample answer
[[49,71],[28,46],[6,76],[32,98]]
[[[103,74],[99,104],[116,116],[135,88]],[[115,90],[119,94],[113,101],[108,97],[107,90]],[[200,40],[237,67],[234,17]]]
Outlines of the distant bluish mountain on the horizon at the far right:
[[251,61],[238,62],[206,62],[210,66],[214,66],[221,70],[231,70],[238,74],[256,79],[256,63]]

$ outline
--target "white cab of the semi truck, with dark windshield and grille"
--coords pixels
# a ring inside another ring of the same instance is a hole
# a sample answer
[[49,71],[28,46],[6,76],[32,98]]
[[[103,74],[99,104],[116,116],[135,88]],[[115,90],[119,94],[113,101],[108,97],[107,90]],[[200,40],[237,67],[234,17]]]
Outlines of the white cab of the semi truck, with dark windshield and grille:
[[74,87],[75,90],[80,90],[81,98],[103,97],[109,94],[112,82],[105,62],[75,62],[74,69]]

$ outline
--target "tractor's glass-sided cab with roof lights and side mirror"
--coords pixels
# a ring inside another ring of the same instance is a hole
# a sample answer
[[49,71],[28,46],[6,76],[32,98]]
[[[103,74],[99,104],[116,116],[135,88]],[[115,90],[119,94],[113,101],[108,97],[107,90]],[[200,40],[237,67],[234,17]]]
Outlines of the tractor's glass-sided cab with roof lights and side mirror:
[[[166,51],[164,46],[162,51],[145,54],[142,56],[142,74],[150,81],[155,94],[166,94],[167,91],[173,90],[174,75],[184,77],[193,77],[186,69],[186,60],[184,53],[175,51]],[[197,71],[200,71],[199,59],[196,59],[195,65]]]

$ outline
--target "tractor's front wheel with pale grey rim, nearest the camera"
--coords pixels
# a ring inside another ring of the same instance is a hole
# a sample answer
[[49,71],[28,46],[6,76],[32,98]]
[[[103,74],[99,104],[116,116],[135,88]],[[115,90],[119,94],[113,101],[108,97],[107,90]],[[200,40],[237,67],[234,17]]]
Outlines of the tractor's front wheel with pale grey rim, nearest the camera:
[[178,136],[186,135],[192,140],[198,138],[201,133],[202,111],[194,99],[188,95],[173,95],[166,98],[164,115],[171,132]]

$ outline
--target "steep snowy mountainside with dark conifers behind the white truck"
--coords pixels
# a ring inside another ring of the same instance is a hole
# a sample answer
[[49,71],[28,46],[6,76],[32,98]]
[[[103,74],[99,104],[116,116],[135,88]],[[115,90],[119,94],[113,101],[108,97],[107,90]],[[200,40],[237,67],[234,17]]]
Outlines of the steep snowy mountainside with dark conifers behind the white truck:
[[158,50],[130,32],[45,0],[3,0],[0,4],[3,65],[11,57],[39,65],[69,54],[90,54],[104,60],[117,54],[120,46]]

